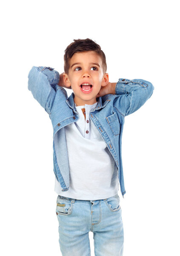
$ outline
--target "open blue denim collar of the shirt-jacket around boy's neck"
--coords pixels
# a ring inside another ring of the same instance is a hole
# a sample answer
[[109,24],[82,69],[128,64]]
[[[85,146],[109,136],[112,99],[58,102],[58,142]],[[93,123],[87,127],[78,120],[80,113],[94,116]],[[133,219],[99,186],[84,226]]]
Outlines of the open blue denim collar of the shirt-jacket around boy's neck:
[[[103,97],[99,97],[97,98],[97,106],[95,108],[95,110],[99,110],[101,108],[104,108],[107,103],[110,101],[110,99],[108,99],[108,95],[105,95]],[[103,100],[102,100],[103,99]],[[74,103],[74,93],[72,92],[71,95],[69,96],[69,98],[66,100],[67,105],[69,105],[70,108],[72,108],[74,111],[76,111],[76,106]]]

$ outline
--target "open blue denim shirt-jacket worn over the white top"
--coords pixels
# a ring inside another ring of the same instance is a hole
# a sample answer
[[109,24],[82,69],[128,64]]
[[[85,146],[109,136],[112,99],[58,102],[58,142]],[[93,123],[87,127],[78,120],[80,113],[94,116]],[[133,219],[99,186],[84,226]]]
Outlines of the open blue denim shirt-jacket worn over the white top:
[[[69,162],[64,127],[79,119],[74,93],[68,97],[66,90],[58,85],[59,73],[51,67],[33,66],[28,78],[28,89],[51,119],[54,174],[63,188],[62,191],[67,191]],[[149,81],[120,78],[115,86],[115,94],[97,98],[96,108],[89,113],[89,118],[97,127],[115,160],[123,197],[126,193],[121,156],[124,119],[137,111],[151,97],[153,90],[154,86]]]

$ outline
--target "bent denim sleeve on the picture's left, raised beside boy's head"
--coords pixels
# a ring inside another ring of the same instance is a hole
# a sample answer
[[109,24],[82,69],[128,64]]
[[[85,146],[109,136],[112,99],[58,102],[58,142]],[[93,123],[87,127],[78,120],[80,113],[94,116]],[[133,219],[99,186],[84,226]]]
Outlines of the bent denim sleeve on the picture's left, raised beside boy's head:
[[49,114],[56,94],[54,86],[59,78],[59,73],[51,67],[33,66],[28,74],[28,90]]

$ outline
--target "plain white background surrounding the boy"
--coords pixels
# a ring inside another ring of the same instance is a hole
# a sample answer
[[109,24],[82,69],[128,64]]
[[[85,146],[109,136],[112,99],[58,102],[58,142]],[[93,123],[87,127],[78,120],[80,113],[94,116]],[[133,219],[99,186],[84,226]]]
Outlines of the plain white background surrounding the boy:
[[61,255],[53,129],[28,90],[28,73],[32,66],[64,72],[66,47],[91,38],[105,52],[109,81],[154,85],[145,105],[125,118],[123,256],[180,256],[179,11],[175,0],[1,4],[1,255]]

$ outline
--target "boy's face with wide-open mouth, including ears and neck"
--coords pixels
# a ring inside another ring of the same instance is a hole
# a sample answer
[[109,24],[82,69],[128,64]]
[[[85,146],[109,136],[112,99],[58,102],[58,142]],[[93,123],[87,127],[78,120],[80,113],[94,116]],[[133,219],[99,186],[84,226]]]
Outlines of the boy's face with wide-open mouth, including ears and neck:
[[[69,74],[64,73],[63,80],[66,86],[71,86],[77,106],[93,105],[97,102],[96,96],[101,86],[108,84],[109,75],[108,73],[103,74],[102,59],[96,52],[76,52],[70,59]],[[80,87],[83,83],[91,84],[92,90],[83,92]]]

